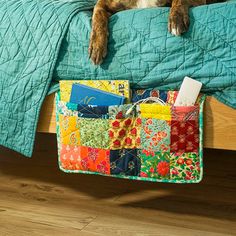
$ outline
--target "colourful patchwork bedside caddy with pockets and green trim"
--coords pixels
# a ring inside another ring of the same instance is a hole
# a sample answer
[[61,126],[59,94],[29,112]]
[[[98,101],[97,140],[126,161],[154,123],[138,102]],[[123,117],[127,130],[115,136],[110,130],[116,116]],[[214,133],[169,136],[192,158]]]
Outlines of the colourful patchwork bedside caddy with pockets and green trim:
[[[166,105],[133,105],[150,96]],[[133,93],[133,104],[105,107],[64,102],[58,92],[60,169],[153,182],[200,182],[205,97],[195,106],[174,107],[176,96],[174,91],[139,90]]]

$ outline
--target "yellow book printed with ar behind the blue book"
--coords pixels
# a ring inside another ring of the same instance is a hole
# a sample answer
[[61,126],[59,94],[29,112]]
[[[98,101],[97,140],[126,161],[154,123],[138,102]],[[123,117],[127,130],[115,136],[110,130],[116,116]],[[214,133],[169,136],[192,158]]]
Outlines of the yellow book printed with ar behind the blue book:
[[126,97],[130,102],[128,80],[62,80],[60,81],[61,101],[69,102],[73,84],[83,84],[92,88],[114,93]]

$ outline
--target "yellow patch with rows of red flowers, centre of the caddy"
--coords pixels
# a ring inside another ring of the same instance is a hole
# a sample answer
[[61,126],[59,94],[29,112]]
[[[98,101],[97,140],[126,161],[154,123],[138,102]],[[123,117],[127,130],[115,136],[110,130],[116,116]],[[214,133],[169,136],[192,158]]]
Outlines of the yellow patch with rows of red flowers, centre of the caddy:
[[110,149],[140,147],[141,118],[110,120]]

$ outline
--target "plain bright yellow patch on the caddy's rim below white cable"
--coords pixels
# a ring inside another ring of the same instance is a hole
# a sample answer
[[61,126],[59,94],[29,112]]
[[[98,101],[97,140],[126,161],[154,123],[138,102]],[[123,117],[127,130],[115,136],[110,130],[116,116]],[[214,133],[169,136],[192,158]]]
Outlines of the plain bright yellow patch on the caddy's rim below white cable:
[[155,118],[159,120],[171,120],[171,106],[162,106],[159,104],[140,104],[142,118]]

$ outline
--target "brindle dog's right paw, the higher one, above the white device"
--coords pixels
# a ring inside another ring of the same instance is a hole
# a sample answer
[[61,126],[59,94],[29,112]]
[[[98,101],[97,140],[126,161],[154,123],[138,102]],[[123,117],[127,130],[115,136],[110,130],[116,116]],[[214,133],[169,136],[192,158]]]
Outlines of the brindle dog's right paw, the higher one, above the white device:
[[173,9],[170,12],[168,30],[175,36],[180,36],[189,28],[188,12],[181,8]]

